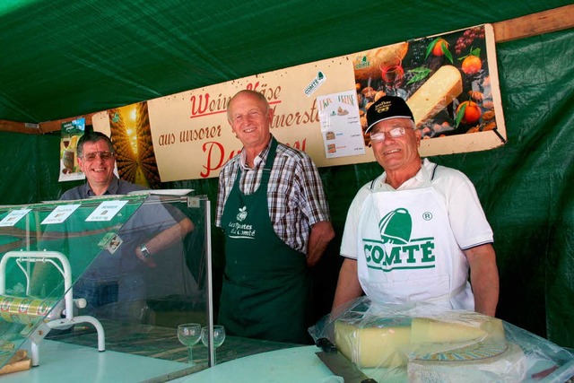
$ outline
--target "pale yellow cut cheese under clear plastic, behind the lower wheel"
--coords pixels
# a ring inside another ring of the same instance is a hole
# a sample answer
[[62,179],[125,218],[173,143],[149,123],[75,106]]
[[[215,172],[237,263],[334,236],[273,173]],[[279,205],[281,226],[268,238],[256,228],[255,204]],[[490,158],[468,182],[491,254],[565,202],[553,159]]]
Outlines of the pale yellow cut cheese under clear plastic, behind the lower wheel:
[[[359,367],[396,368],[419,350],[441,351],[504,340],[502,321],[482,314],[447,313],[444,318],[370,318],[335,322],[335,344]],[[444,320],[442,320],[444,319]]]

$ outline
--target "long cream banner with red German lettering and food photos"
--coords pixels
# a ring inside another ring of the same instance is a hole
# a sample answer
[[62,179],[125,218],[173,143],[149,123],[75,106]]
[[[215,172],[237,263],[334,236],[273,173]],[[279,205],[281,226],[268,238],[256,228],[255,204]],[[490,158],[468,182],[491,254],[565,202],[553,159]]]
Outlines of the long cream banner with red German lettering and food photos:
[[[226,113],[230,98],[242,89],[265,95],[274,112],[271,133],[307,152],[317,167],[376,161],[364,134],[365,112],[384,94],[403,97],[413,109],[423,157],[506,142],[490,24],[107,110],[95,114],[92,125],[111,135],[120,178],[152,188],[213,178],[241,150]],[[359,116],[363,151],[334,156],[326,147],[317,102],[339,93],[356,94],[356,109],[349,112]]]

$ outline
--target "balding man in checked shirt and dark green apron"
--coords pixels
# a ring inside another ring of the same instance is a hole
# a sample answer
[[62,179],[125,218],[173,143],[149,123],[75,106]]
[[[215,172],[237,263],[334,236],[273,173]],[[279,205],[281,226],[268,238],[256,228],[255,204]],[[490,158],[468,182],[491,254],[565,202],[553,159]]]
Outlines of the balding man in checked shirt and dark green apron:
[[219,323],[228,334],[307,344],[309,266],[335,237],[317,167],[271,135],[257,91],[228,105],[243,149],[222,169],[215,224],[225,233]]

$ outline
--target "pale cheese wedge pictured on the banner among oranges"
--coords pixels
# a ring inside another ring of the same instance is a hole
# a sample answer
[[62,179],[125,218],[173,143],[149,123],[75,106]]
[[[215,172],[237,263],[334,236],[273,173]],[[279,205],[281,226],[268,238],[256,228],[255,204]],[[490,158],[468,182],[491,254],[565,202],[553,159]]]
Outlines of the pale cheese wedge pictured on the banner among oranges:
[[423,83],[406,104],[413,112],[414,123],[421,126],[427,119],[436,116],[440,110],[463,92],[463,79],[453,65],[442,65]]

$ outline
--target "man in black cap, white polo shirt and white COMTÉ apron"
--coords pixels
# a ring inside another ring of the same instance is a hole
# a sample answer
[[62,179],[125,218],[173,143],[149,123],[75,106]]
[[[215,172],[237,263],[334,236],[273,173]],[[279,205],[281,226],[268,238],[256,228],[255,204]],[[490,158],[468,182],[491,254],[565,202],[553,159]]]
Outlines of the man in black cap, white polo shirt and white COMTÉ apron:
[[333,309],[364,292],[380,302],[429,301],[494,316],[499,274],[473,184],[458,170],[422,161],[421,132],[400,97],[380,98],[367,123],[385,171],[349,208]]

